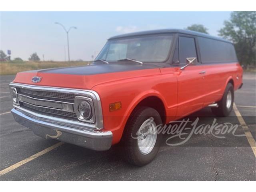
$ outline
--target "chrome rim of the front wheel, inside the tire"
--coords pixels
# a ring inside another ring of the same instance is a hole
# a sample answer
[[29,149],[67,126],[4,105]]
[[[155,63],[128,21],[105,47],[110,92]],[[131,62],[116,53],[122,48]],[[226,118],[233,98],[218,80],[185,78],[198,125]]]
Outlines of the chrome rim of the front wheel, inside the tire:
[[149,154],[156,144],[156,138],[156,123],[152,118],[148,118],[138,130],[137,142],[140,153],[143,155]]

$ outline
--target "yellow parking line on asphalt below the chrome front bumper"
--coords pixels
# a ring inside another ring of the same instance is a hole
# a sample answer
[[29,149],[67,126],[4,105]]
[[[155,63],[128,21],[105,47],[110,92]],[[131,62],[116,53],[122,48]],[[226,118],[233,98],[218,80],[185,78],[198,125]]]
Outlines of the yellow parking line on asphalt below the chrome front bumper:
[[58,142],[58,143],[54,144],[53,146],[50,146],[50,147],[48,147],[48,148],[46,148],[46,149],[44,149],[44,150],[42,150],[42,151],[40,151],[38,153],[36,153],[36,154],[26,158],[26,159],[24,159],[24,160],[22,160],[22,161],[20,161],[20,162],[18,162],[16,164],[8,167],[8,168],[5,168],[4,170],[0,171],[0,176],[4,175],[4,174],[6,174],[6,173],[8,173],[8,172],[10,172],[10,171],[20,167],[20,166],[22,166],[23,164],[26,164],[27,162],[30,162],[30,161],[32,161],[32,160],[42,156],[43,154],[48,153],[49,151],[57,148],[58,146],[61,146],[62,144],[64,144],[64,143],[63,142]]

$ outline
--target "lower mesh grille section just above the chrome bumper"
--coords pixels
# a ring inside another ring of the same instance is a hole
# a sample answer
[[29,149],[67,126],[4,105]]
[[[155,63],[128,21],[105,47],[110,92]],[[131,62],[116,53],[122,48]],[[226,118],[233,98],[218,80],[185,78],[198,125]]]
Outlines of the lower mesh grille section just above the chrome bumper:
[[65,116],[65,117],[69,117],[69,118],[75,118],[76,114],[74,112],[67,112],[67,111],[63,111],[63,110],[56,110],[53,108],[44,108],[44,107],[38,107],[38,106],[34,106],[34,105],[30,105],[27,103],[22,103],[22,106],[28,110],[32,110],[34,112],[43,112],[43,113],[50,113],[53,114],[53,116]]

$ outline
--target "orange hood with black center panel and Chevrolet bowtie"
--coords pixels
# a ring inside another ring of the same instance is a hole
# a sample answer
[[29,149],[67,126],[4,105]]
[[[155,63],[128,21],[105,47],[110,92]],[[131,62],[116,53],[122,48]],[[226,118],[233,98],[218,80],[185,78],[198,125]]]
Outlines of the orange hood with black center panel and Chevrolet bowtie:
[[[13,82],[38,86],[92,89],[102,83],[159,73],[159,66],[153,65],[99,64],[19,72]],[[32,82],[34,76],[41,77],[41,81]]]

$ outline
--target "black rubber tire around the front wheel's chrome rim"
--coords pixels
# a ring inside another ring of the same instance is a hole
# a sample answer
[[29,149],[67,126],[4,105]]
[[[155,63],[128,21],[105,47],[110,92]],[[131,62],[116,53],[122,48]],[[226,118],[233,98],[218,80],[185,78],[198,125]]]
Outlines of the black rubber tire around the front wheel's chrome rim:
[[136,138],[137,132],[143,122],[151,117],[154,118],[156,125],[162,124],[160,114],[155,109],[142,106],[132,113],[125,127],[125,132],[122,138],[122,143],[125,148],[123,151],[124,157],[128,162],[136,166],[143,166],[150,163],[158,153],[162,141],[162,133],[157,134],[154,148],[148,154],[142,154],[140,152],[138,139]]

